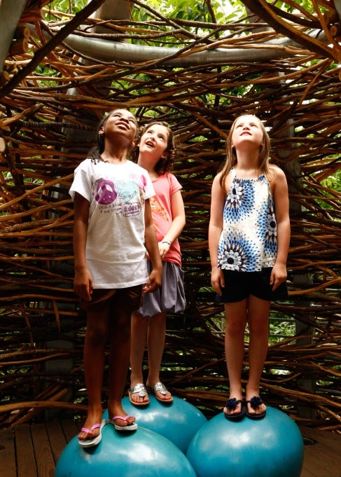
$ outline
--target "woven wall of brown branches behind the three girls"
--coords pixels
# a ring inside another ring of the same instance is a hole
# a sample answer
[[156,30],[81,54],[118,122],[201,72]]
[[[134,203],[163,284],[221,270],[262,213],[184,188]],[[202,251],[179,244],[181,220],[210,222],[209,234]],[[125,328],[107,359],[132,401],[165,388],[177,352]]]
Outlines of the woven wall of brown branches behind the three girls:
[[[41,419],[47,408],[85,412],[85,317],[73,292],[68,191],[99,119],[119,106],[131,108],[141,125],[166,120],[179,143],[174,172],[186,206],[181,249],[187,305],[168,318],[162,380],[208,417],[225,402],[223,310],[210,288],[207,242],[211,180],[224,160],[232,121],[240,113],[256,114],[270,132],[272,161],[286,172],[291,201],[290,296],[272,304],[271,316],[277,330],[284,323],[293,332],[270,344],[262,395],[298,422],[340,430],[341,210],[335,180],[341,48],[333,1],[313,1],[314,13],[302,8],[287,16],[266,1],[244,1],[252,9],[248,16],[222,24],[211,11],[211,22],[202,25],[165,18],[139,1],[123,3],[128,12],[144,8],[146,22],[134,15],[90,18],[104,3],[98,0],[76,16],[50,11],[48,3],[27,2],[20,26],[29,29],[29,49],[8,55],[1,76],[1,427]],[[71,34],[91,48],[92,41],[125,47],[129,39],[135,48],[162,48],[164,57],[109,59],[70,46]],[[226,60],[214,56],[216,48]],[[245,347],[247,371],[247,337]]]

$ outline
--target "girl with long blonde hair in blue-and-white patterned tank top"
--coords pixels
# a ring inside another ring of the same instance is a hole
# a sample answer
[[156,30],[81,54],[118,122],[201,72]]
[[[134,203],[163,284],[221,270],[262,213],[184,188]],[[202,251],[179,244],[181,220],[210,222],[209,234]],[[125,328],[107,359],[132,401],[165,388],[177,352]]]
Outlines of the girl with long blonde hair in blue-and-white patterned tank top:
[[[229,420],[265,416],[260,377],[267,354],[271,300],[287,298],[290,241],[288,186],[269,164],[270,137],[256,116],[239,116],[227,158],[212,184],[209,222],[211,285],[225,308]],[[244,332],[249,326],[249,378],[242,389]]]

